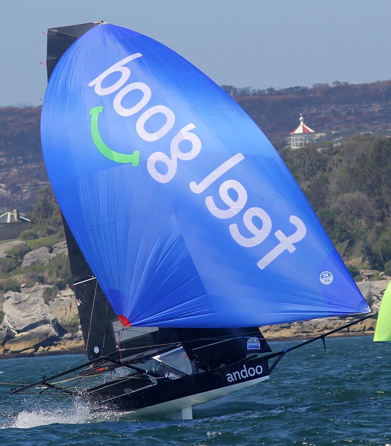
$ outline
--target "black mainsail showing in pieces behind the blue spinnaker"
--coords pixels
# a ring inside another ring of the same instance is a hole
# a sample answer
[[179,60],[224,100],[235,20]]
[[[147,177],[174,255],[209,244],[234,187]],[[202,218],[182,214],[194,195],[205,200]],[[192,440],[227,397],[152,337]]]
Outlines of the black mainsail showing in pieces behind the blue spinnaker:
[[[69,46],[102,22],[61,26],[47,30],[47,81]],[[79,319],[89,360],[108,355],[116,348],[128,349],[131,358],[153,354],[178,343],[174,329],[136,327],[123,330],[107,297],[94,277],[86,258],[63,217],[69,263],[73,277]],[[158,344],[162,344],[161,347]]]

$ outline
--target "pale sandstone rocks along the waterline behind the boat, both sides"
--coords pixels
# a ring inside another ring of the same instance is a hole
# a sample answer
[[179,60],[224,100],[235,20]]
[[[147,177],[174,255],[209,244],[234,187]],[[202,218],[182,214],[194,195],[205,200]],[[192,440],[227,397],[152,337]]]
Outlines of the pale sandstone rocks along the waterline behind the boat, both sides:
[[[376,314],[388,282],[358,282],[375,316],[332,336],[373,335]],[[48,299],[54,289],[52,285],[35,284],[30,288],[23,287],[22,292],[8,291],[4,294],[0,359],[84,352],[74,291],[66,288],[53,299]],[[261,327],[261,331],[267,340],[299,340],[318,336],[353,320],[313,319],[267,325]]]

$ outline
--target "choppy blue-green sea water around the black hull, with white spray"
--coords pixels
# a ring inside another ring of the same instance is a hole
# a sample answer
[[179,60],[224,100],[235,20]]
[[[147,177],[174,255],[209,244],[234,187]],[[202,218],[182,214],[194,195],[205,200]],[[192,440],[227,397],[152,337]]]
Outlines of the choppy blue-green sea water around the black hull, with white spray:
[[[298,341],[271,342],[274,351]],[[64,397],[9,394],[0,385],[1,446],[390,445],[390,344],[327,339],[287,353],[270,380],[195,407],[194,420],[93,416]],[[1,382],[31,382],[82,355],[0,361]]]

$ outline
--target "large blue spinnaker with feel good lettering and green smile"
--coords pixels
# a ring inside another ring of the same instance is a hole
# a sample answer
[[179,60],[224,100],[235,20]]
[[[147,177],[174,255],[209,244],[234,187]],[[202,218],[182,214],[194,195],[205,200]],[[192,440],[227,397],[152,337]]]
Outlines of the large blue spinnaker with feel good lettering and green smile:
[[41,132],[61,210],[125,325],[369,311],[261,130],[161,43],[89,30],[53,71]]

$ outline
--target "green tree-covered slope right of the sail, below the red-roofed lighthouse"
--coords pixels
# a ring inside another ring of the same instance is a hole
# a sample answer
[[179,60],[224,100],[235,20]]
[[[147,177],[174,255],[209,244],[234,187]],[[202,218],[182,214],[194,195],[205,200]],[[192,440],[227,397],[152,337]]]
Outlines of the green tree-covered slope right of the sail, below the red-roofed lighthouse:
[[280,153],[340,254],[390,268],[391,139],[359,134]]

